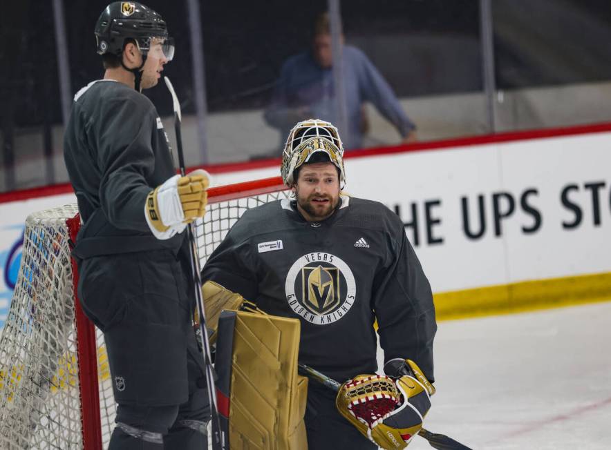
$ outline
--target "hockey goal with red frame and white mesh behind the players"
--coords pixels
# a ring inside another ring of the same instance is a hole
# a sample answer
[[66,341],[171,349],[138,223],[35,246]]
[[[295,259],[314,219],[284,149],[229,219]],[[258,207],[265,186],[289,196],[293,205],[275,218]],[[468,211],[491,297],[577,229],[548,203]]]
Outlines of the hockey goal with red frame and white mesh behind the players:
[[[206,215],[196,224],[202,266],[247,209],[289,193],[280,177],[210,188]],[[79,225],[75,204],[26,219],[0,335],[1,449],[108,447],[115,402],[104,337],[75,294],[71,242]]]

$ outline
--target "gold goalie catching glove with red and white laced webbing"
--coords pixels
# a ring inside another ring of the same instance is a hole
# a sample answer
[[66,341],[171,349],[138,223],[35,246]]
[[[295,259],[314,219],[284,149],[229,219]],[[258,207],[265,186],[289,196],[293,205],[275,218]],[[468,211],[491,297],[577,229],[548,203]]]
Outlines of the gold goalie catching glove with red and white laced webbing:
[[407,447],[431,408],[435,388],[415,362],[404,364],[415,376],[358,375],[341,385],[335,399],[339,413],[382,449]]

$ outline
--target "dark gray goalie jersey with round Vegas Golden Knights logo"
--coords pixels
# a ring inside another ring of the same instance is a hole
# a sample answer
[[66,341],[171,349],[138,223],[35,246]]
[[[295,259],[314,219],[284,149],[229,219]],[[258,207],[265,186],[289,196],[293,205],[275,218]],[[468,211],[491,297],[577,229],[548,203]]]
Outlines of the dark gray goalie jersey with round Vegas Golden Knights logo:
[[301,320],[299,361],[337,380],[410,358],[433,378],[437,330],[431,286],[386,206],[341,197],[337,211],[307,222],[283,199],[247,211],[209,257],[203,280],[241,293],[263,311]]

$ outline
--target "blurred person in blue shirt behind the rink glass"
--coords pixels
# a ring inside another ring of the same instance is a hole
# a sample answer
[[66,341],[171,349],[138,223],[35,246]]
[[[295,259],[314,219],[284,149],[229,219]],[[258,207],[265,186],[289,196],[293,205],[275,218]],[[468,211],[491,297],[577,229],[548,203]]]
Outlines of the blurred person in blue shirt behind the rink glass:
[[[344,35],[341,35],[342,44]],[[347,149],[361,148],[368,131],[364,109],[370,101],[397,128],[402,143],[416,140],[415,124],[404,113],[391,86],[373,63],[353,47],[342,45],[344,89],[346,92],[346,124],[344,135]],[[338,123],[335,86],[332,72],[331,32],[328,13],[314,22],[312,48],[290,57],[281,69],[279,81],[265,110],[265,121],[278,128],[281,136],[288,135],[297,121],[319,117]]]

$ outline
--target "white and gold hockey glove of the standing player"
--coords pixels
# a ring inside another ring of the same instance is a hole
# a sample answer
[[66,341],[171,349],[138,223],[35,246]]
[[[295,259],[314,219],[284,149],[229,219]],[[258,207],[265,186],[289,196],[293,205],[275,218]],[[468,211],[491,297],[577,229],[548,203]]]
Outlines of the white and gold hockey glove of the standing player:
[[144,204],[144,217],[153,235],[157,239],[169,239],[203,217],[209,184],[208,173],[198,169],[185,177],[174,175],[151,190]]

